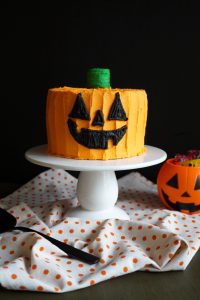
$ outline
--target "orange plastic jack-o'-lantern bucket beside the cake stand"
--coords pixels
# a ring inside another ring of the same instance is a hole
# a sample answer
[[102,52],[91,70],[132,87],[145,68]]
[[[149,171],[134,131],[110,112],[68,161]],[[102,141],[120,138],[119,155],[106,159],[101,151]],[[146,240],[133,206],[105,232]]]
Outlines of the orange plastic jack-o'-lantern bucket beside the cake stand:
[[200,212],[200,167],[176,165],[168,159],[159,171],[157,186],[167,208],[188,214]]

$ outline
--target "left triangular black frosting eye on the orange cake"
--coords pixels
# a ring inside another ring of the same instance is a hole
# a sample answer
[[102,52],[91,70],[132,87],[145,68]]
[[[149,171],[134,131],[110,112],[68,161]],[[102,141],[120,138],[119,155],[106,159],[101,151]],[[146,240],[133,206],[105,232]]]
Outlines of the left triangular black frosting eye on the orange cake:
[[71,113],[69,114],[69,117],[81,120],[90,120],[90,115],[87,111],[81,93],[77,95],[76,101],[74,103]]

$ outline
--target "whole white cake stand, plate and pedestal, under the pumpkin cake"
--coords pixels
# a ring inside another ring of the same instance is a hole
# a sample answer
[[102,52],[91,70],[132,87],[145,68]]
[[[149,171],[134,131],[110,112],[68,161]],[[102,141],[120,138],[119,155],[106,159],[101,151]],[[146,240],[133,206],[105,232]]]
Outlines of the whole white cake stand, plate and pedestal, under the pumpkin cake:
[[146,153],[131,158],[116,160],[76,160],[50,155],[47,145],[26,151],[30,162],[49,168],[80,171],[77,184],[77,197],[80,206],[70,209],[70,217],[89,219],[116,218],[129,220],[126,212],[115,206],[118,198],[118,183],[114,171],[139,169],[153,166],[167,158],[163,150],[145,146]]

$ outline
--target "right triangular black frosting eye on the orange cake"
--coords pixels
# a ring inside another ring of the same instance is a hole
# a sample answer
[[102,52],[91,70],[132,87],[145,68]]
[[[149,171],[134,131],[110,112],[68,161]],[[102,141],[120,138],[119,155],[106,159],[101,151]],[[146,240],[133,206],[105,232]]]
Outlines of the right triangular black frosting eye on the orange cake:
[[115,100],[111,106],[110,113],[108,116],[108,120],[119,120],[119,121],[127,121],[125,110],[123,108],[120,94],[115,94]]

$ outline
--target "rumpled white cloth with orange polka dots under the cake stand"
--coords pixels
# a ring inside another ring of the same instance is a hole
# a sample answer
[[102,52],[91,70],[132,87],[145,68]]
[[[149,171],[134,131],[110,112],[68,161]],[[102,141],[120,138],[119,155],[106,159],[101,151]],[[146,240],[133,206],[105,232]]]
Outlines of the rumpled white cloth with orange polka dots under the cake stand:
[[200,245],[200,214],[167,210],[156,185],[139,173],[119,182],[117,206],[131,218],[88,220],[67,217],[78,205],[77,179],[48,170],[0,206],[31,227],[99,256],[94,265],[70,259],[35,233],[0,234],[0,284],[7,289],[62,293],[135,271],[184,270]]

